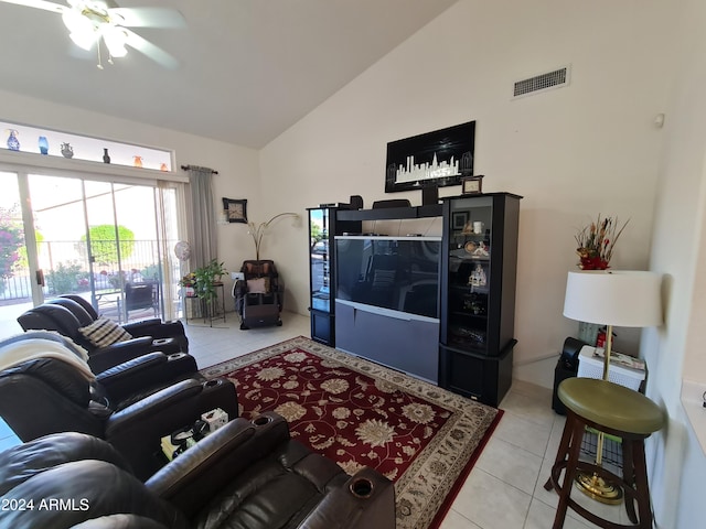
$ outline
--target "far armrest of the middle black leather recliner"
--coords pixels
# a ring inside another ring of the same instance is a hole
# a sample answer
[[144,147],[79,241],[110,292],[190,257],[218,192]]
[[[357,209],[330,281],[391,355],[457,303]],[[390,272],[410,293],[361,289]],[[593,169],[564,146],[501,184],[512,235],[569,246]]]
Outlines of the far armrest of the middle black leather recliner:
[[96,376],[111,402],[119,402],[148,387],[196,376],[196,360],[184,353],[149,353],[106,369]]

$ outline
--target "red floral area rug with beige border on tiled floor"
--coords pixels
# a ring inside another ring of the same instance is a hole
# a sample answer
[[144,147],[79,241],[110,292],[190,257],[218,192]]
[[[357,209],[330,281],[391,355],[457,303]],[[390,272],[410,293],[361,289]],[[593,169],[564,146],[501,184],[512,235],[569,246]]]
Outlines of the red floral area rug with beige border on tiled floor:
[[274,410],[349,474],[395,482],[398,529],[438,527],[502,415],[303,336],[201,373],[236,384],[242,417]]

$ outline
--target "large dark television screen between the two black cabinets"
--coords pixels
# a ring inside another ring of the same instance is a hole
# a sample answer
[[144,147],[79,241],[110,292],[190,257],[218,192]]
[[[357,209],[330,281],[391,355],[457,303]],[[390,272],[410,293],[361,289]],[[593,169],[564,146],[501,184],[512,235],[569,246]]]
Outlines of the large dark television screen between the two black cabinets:
[[440,237],[336,236],[336,301],[439,317]]

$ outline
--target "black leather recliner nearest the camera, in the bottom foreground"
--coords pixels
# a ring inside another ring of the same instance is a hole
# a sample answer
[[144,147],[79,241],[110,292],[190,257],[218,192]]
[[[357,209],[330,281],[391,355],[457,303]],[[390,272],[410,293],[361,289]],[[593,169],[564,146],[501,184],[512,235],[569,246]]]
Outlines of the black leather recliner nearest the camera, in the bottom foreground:
[[[2,527],[393,529],[395,490],[371,468],[354,476],[290,440],[268,412],[235,419],[140,483],[109,445],[52,435],[0,454]],[[39,509],[55,498],[74,508]]]

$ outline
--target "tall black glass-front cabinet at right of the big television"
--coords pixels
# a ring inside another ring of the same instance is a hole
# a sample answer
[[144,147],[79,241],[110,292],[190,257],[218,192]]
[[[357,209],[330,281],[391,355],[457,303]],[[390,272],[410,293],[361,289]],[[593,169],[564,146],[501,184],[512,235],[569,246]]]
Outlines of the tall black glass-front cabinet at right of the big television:
[[443,198],[439,386],[496,407],[512,384],[518,195]]

